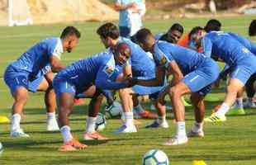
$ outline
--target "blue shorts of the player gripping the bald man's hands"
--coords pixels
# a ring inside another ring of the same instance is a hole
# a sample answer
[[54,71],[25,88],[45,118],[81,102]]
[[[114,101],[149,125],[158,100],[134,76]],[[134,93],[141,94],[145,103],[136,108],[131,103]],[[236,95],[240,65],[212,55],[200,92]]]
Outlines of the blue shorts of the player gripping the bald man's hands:
[[219,77],[219,67],[212,59],[206,59],[196,70],[182,80],[192,92],[205,96],[211,92],[211,84]]

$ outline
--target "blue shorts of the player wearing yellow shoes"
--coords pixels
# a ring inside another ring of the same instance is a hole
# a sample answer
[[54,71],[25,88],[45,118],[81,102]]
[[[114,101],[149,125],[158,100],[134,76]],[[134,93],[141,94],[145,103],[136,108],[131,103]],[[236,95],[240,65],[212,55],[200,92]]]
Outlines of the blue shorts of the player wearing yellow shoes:
[[239,79],[245,84],[248,79],[256,73],[256,57],[254,55],[250,58],[246,57],[244,60],[240,60],[233,68],[234,70],[230,77]]

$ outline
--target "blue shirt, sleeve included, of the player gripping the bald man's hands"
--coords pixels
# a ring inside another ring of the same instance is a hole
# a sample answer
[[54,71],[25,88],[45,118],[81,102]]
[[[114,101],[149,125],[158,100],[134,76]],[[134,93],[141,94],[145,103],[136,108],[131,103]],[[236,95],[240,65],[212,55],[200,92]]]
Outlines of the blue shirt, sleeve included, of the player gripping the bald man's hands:
[[199,67],[206,60],[206,56],[194,50],[159,40],[154,45],[154,60],[157,66],[164,65],[165,68],[168,68],[168,64],[175,60],[183,75],[186,75]]

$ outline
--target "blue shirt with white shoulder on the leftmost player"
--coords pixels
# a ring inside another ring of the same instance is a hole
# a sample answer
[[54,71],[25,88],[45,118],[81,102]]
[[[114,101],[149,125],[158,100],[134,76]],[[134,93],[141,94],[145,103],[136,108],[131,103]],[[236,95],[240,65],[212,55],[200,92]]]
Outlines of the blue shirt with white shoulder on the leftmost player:
[[36,74],[42,68],[45,68],[45,66],[50,65],[50,56],[52,54],[62,52],[63,47],[59,38],[41,40],[22,54],[20,58],[11,65],[17,69]]

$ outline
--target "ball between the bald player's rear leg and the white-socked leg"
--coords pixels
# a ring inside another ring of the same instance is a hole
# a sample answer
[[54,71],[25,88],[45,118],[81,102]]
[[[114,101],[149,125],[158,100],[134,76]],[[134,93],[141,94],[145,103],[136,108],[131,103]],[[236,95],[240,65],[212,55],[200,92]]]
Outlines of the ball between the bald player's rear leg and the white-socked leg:
[[118,101],[114,101],[111,106],[106,106],[106,117],[107,119],[121,117],[122,107]]

